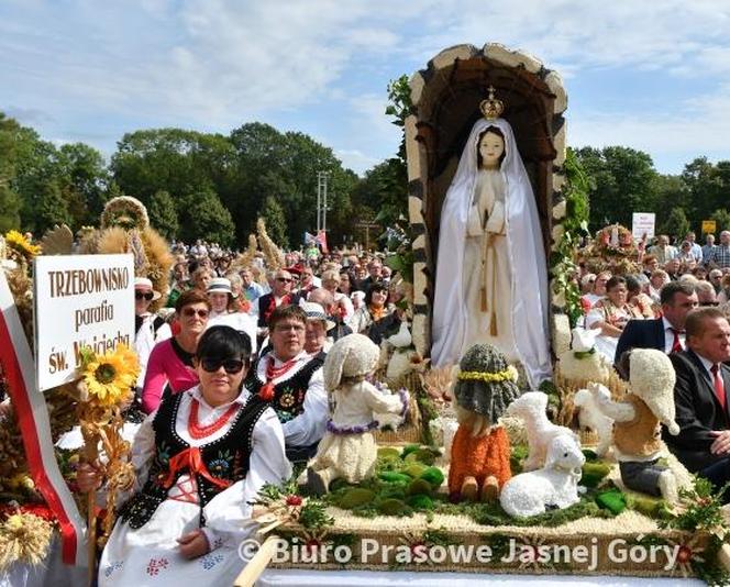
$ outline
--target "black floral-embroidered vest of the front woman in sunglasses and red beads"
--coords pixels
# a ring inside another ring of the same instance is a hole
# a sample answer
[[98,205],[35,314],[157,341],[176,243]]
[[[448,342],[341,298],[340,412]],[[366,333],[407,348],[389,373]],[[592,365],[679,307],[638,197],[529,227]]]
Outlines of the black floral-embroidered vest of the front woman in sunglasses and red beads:
[[[130,524],[130,528],[142,528],[147,523],[159,505],[167,499],[167,491],[170,487],[175,486],[181,475],[189,473],[185,468],[179,472],[172,485],[165,484],[169,474],[170,458],[190,446],[175,431],[182,396],[184,394],[175,394],[165,398],[152,423],[155,431],[155,456],[147,481],[142,490],[132,496],[119,511],[119,516]],[[229,481],[231,485],[245,478],[248,473],[253,430],[266,408],[268,408],[268,403],[257,397],[251,397],[248,402],[239,410],[225,434],[199,447],[201,459],[212,477]],[[196,475],[196,483],[202,512],[202,508],[223,489],[200,474]],[[203,523],[201,513],[201,525]]]

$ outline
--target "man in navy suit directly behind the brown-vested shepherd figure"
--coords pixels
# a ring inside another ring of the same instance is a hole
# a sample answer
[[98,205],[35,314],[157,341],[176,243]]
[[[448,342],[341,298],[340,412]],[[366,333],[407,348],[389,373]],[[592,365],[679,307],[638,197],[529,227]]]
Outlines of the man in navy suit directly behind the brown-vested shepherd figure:
[[662,317],[654,320],[629,320],[616,346],[613,364],[631,348],[656,348],[670,354],[685,347],[685,320],[697,308],[694,286],[671,281],[660,292]]

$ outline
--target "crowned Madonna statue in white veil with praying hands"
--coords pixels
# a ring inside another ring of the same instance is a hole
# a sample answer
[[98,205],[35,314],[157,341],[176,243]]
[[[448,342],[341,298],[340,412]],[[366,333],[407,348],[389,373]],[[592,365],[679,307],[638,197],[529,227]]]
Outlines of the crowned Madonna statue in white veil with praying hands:
[[480,108],[441,211],[431,359],[490,343],[537,388],[552,372],[542,231],[501,102],[490,90]]

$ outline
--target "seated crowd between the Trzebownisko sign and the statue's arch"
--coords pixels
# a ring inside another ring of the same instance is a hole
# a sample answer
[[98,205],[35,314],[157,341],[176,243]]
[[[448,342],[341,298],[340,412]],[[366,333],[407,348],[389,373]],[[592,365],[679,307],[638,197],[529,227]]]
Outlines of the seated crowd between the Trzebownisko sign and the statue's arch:
[[[379,254],[294,252],[269,270],[263,256],[236,266],[202,242],[173,248],[163,308],[151,311],[163,292],[135,280],[136,483],[120,499],[100,585],[144,583],[162,561],[168,582],[232,584],[248,502],[313,457],[327,432],[328,350],[353,332],[379,343],[403,318]],[[102,490],[100,467],[81,465],[77,481]]]

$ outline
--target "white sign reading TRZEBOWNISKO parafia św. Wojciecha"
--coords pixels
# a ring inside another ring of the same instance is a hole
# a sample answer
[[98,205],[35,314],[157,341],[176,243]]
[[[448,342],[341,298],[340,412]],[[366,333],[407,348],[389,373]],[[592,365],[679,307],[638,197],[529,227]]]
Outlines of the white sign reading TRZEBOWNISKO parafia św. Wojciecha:
[[35,258],[35,357],[38,389],[71,381],[80,351],[134,344],[132,255],[52,255]]

